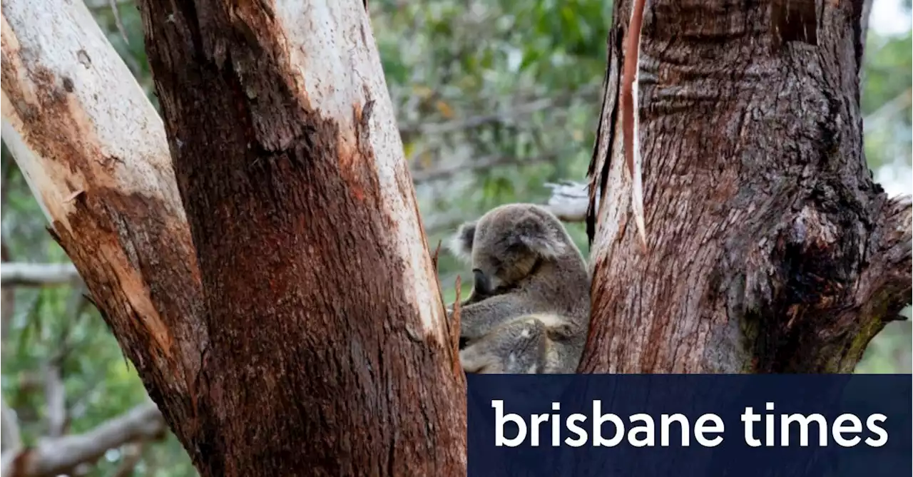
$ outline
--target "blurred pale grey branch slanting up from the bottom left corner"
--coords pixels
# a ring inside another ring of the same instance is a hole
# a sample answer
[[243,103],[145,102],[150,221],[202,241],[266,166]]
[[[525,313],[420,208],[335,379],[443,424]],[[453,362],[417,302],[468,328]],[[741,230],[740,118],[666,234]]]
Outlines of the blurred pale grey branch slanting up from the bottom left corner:
[[164,432],[165,422],[158,408],[143,404],[83,434],[43,439],[35,447],[7,451],[0,455],[0,477],[55,476],[80,463],[95,461],[105,451],[125,443],[160,439]]

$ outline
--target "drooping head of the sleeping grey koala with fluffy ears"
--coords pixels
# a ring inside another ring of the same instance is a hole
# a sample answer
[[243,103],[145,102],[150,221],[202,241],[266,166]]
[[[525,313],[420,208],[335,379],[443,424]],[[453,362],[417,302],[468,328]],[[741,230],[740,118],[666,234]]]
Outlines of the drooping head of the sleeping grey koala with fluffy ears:
[[576,253],[558,218],[531,203],[502,205],[464,223],[449,248],[472,263],[478,293],[519,282],[540,260]]

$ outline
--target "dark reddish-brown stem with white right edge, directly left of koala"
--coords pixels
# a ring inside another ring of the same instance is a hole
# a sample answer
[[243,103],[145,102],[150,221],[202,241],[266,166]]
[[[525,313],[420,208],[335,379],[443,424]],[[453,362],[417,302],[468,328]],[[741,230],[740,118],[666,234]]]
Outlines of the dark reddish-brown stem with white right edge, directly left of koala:
[[208,310],[197,467],[465,473],[463,375],[363,5],[141,11]]

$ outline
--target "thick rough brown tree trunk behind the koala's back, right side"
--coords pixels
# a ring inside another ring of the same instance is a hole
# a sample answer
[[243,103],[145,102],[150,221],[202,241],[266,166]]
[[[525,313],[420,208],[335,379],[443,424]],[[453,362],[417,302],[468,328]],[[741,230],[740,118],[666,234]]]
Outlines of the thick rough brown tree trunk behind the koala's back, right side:
[[615,4],[582,372],[850,372],[913,299],[913,208],[887,200],[862,150],[862,4],[650,2],[646,254],[617,101],[631,1]]

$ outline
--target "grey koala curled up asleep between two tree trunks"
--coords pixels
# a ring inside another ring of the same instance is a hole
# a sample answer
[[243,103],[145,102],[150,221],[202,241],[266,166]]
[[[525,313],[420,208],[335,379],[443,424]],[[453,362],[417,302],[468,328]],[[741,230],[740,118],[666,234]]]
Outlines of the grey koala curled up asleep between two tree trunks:
[[571,374],[590,326],[590,275],[552,213],[531,203],[461,225],[451,252],[472,264],[460,305],[460,362],[469,373]]

